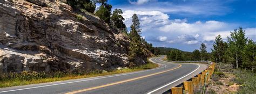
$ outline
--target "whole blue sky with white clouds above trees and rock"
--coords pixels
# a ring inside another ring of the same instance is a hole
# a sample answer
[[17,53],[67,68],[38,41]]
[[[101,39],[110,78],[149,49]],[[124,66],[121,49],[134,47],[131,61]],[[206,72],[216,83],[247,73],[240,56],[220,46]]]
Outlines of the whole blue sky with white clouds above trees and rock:
[[142,37],[154,47],[173,47],[192,52],[205,43],[211,52],[215,36],[224,40],[239,26],[246,37],[256,40],[256,0],[109,0],[122,9],[124,23],[140,19]]

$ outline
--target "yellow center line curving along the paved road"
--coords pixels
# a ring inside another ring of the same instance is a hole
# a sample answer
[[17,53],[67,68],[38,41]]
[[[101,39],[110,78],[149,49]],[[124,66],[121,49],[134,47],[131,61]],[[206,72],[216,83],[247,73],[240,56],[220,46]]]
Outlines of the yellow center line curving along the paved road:
[[119,82],[114,82],[114,83],[110,83],[110,84],[95,86],[95,87],[87,88],[87,89],[83,89],[83,90],[72,91],[72,92],[68,92],[68,93],[65,93],[65,94],[85,92],[85,91],[89,91],[89,90],[94,90],[94,89],[103,88],[103,87],[106,87],[106,86],[111,86],[111,85],[116,85],[116,84],[120,84],[120,83],[130,82],[130,81],[134,81],[134,80],[136,80],[136,79],[140,79],[140,78],[145,78],[145,77],[149,77],[149,76],[153,76],[153,75],[162,74],[162,73],[165,73],[165,72],[167,72],[167,71],[171,71],[171,70],[174,70],[174,69],[178,69],[178,68],[180,68],[180,67],[181,67],[181,64],[179,64],[179,67],[176,67],[176,68],[173,68],[173,69],[169,69],[169,70],[165,70],[165,71],[161,71],[161,72],[159,72],[159,73],[154,73],[154,74],[150,74],[150,75],[140,76],[140,77],[132,78],[132,79],[126,79],[126,80],[124,80],[124,81],[119,81]]

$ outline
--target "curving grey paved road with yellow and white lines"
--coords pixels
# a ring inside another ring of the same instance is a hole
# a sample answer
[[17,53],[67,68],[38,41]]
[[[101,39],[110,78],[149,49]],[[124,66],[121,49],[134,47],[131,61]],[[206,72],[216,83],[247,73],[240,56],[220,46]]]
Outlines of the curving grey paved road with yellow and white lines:
[[201,73],[206,64],[171,63],[161,57],[150,59],[159,67],[133,73],[72,79],[43,84],[14,86],[0,93],[162,93]]

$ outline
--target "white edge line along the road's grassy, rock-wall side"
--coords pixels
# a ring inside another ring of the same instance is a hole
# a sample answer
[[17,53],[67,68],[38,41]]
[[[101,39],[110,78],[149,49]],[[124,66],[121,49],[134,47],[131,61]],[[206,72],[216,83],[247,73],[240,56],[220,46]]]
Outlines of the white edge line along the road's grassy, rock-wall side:
[[[156,59],[156,58],[151,58],[151,59]],[[156,63],[156,62],[152,61],[151,59],[149,59],[151,62]],[[160,64],[160,63],[158,63],[158,64]],[[164,67],[160,67],[160,66],[159,66],[160,68],[156,68],[156,69],[165,68],[165,67],[166,67],[166,64],[163,64],[163,65],[164,65]],[[77,83],[77,82],[83,82],[83,81],[91,81],[91,80],[94,80],[94,79],[102,79],[102,78],[109,78],[109,77],[130,75],[130,74],[142,73],[142,72],[151,71],[151,70],[156,70],[156,69],[150,69],[150,70],[138,71],[138,72],[134,72],[134,73],[120,74],[120,75],[113,75],[113,76],[106,76],[106,77],[99,77],[99,78],[92,78],[92,79],[85,79],[85,80],[73,81],[73,82],[66,82],[66,83],[58,83],[58,84],[50,84],[50,85],[35,86],[35,87],[31,87],[31,88],[23,88],[23,89],[15,89],[15,90],[8,90],[8,91],[0,91],[0,93],[11,92],[11,91],[19,91],[19,90],[27,90],[27,89],[35,89],[35,88],[42,88],[42,87],[53,86],[53,85]]]

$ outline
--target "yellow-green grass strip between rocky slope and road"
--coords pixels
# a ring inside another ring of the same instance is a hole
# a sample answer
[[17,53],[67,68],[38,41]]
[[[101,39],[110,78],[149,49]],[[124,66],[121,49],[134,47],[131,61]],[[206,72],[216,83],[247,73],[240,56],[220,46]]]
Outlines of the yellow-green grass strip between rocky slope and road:
[[124,68],[120,70],[111,70],[111,71],[94,70],[91,72],[84,71],[84,72],[76,72],[76,73],[64,73],[61,71],[57,71],[53,73],[23,71],[22,73],[8,73],[8,74],[0,75],[0,88],[9,87],[9,86],[18,86],[18,85],[64,81],[68,79],[78,79],[78,78],[129,73],[133,71],[153,69],[156,67],[158,67],[158,64],[150,62],[150,63],[144,64],[143,66],[138,66],[133,68]]

